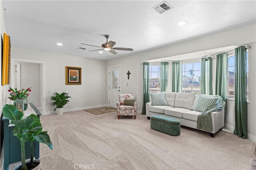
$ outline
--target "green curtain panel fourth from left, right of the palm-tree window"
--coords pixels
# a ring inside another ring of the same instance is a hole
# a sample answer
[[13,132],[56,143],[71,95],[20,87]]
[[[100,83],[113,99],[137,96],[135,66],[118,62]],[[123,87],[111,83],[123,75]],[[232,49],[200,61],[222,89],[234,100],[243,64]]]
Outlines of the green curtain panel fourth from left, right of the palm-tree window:
[[201,94],[212,95],[212,57],[201,59]]

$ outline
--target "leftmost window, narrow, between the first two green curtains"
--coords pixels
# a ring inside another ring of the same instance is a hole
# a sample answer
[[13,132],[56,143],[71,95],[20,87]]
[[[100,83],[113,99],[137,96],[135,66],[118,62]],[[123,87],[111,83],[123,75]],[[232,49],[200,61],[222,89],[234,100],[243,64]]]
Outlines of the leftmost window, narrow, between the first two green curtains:
[[160,92],[160,65],[149,66],[149,91],[150,93]]

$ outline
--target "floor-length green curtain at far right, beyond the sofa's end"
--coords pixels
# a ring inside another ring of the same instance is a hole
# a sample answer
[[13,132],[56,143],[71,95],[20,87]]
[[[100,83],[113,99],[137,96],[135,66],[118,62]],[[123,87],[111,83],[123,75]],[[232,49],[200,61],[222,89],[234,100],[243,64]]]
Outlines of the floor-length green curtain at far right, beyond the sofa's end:
[[234,134],[247,136],[246,47],[235,48],[235,130]]

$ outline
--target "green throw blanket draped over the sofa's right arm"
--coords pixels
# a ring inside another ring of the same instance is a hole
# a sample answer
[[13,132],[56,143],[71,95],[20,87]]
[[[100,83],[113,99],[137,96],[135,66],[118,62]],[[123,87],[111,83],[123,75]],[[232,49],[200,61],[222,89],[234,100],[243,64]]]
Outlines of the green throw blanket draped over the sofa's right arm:
[[204,113],[198,115],[196,129],[202,129],[204,131],[212,131],[212,116],[213,111],[221,111],[226,103],[222,100],[220,96],[214,96],[219,98],[217,105],[209,106]]

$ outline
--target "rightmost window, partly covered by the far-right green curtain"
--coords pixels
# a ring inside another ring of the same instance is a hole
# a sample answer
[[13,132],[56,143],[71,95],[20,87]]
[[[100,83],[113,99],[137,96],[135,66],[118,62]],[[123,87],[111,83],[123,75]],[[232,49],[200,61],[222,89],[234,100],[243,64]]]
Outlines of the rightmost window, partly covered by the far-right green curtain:
[[[249,87],[248,87],[248,51],[246,52],[246,96],[249,98]],[[228,57],[228,83],[227,83],[227,97],[234,98],[235,96],[235,56],[231,55]]]

